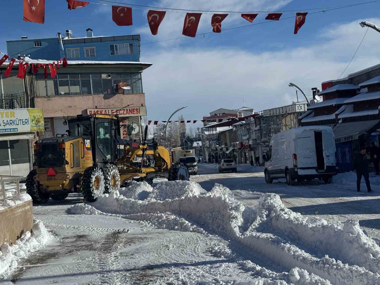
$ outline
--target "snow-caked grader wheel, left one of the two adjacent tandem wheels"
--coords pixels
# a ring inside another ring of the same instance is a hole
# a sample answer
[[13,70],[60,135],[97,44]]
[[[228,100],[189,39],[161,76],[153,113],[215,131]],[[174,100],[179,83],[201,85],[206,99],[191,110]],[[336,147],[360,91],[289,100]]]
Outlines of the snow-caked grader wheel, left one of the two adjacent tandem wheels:
[[104,192],[104,175],[101,168],[93,166],[86,168],[82,176],[81,188],[86,201],[96,201]]

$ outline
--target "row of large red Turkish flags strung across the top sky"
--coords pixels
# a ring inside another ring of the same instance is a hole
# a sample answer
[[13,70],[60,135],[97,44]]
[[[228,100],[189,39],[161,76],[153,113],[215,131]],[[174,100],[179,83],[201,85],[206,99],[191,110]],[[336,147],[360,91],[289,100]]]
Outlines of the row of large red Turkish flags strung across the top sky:
[[[66,0],[68,9],[78,9],[86,7],[90,2],[78,0]],[[43,24],[45,21],[45,0],[23,0],[24,4],[24,21]],[[165,17],[166,11],[149,10],[147,20],[152,35],[157,35],[158,27]],[[195,37],[198,30],[199,20],[202,13],[186,13],[184,19],[184,27],[182,35]],[[258,14],[241,14],[241,16],[249,22],[253,22]],[[296,13],[296,21],[294,23],[294,34],[305,24],[307,12]],[[211,17],[212,32],[222,32],[222,21],[228,14],[214,14]],[[278,21],[282,13],[269,13],[266,20]],[[127,6],[112,6],[112,21],[118,26],[132,25],[132,8]]]

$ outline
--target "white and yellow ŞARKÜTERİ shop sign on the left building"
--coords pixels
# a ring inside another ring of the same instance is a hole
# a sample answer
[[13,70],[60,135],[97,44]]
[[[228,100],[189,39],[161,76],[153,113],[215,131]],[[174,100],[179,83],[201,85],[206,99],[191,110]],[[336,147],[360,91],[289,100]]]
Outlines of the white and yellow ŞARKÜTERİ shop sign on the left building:
[[44,115],[42,109],[0,110],[0,133],[43,130]]

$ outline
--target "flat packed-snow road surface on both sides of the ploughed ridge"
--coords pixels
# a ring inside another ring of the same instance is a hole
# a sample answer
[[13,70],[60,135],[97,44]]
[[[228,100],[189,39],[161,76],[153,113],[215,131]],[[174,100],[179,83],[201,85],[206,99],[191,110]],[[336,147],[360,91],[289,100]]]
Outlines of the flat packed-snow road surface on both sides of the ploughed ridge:
[[[317,216],[328,223],[359,220],[361,228],[370,237],[380,240],[378,184],[372,185],[374,194],[357,195],[352,183],[325,185],[315,180],[290,187],[285,180],[266,184],[260,172],[262,168],[255,167],[254,171],[258,172],[220,174],[214,166],[199,164],[199,175],[192,176],[191,180],[207,191],[215,183],[222,184],[230,188],[244,206],[256,205],[262,193],[276,193],[294,212]],[[130,220],[123,215],[68,212],[68,207],[82,202],[82,195],[73,193],[62,202],[50,199],[44,206],[33,206],[34,217],[42,220],[56,239],[19,261],[17,270],[7,279],[0,279],[0,284],[197,284],[205,280],[204,284],[219,284],[220,280],[247,282],[257,281],[260,277],[280,282],[276,284],[288,284],[283,280],[295,278],[285,278],[282,273],[289,272],[294,267],[292,264],[268,258],[259,250],[223,235],[172,231]],[[263,226],[260,231],[267,233],[268,237],[275,234],[281,239],[289,239],[291,236],[291,233],[275,227]],[[294,244],[316,258],[323,258],[325,254],[334,258],[334,254],[339,254],[334,250],[329,252],[328,245],[323,252],[313,252],[307,241]],[[342,256],[342,259],[349,265],[356,264],[349,256]],[[250,260],[256,265],[242,260]],[[296,284],[298,279],[294,280]],[[323,282],[315,284],[329,284],[326,280]]]

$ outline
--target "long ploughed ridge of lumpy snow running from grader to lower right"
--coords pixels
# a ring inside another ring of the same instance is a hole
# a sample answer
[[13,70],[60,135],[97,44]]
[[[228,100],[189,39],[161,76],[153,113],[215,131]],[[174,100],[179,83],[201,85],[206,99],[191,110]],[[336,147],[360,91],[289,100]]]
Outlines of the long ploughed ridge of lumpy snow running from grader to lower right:
[[[345,285],[380,283],[380,247],[357,221],[334,225],[304,217],[287,209],[280,197],[271,193],[261,196],[255,207],[245,208],[220,184],[208,193],[199,187],[198,193],[192,182],[166,183],[144,201],[125,198],[116,191],[100,196],[92,210],[88,205],[75,205],[69,211],[78,213],[82,207],[82,213],[122,214],[168,229],[199,233],[206,229],[288,266],[292,270],[285,277],[275,277],[284,284],[329,284],[326,280]],[[169,193],[169,188],[174,193]],[[228,250],[213,250],[231,256]]]

